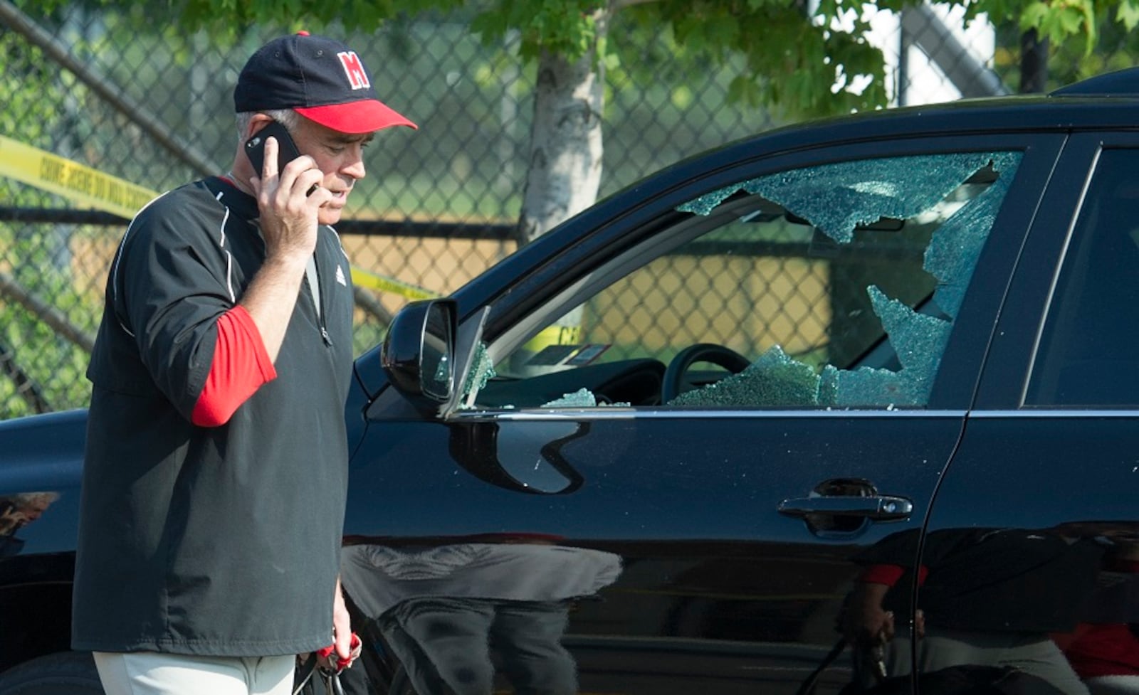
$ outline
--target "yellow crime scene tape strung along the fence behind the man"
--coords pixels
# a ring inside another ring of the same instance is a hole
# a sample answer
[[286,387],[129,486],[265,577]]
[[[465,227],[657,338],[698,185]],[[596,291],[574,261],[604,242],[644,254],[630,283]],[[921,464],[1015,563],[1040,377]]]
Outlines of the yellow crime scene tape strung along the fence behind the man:
[[[63,196],[72,202],[130,220],[158,197],[141,185],[0,135],[0,176]],[[439,297],[437,292],[366,271],[352,268],[352,281],[361,287],[409,299]]]

